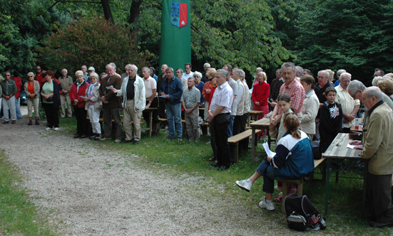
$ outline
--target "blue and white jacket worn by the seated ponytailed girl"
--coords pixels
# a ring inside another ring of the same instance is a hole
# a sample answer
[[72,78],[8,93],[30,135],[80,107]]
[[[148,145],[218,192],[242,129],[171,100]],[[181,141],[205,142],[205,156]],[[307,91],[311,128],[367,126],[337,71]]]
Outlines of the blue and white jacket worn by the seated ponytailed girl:
[[276,179],[300,178],[314,171],[310,139],[305,132],[300,131],[300,134],[300,139],[295,139],[286,132],[277,142],[276,154],[270,161]]

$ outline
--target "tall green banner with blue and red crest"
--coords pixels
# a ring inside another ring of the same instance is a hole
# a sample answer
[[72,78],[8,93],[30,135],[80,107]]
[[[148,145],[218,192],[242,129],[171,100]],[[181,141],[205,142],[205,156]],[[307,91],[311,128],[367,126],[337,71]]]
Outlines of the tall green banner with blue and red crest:
[[160,66],[184,70],[191,63],[190,0],[163,0]]

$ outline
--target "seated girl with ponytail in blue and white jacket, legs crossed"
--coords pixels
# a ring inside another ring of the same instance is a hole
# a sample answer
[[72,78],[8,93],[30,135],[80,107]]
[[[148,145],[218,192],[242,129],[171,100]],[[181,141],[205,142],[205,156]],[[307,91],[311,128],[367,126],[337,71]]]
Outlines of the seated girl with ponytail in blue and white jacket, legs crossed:
[[252,183],[263,176],[262,191],[266,193],[266,198],[259,206],[267,210],[275,209],[272,202],[275,179],[296,179],[314,171],[310,139],[305,132],[299,130],[300,122],[297,115],[289,113],[283,118],[282,123],[286,132],[277,142],[275,156],[267,156],[250,178],[236,181],[240,188],[250,191]]

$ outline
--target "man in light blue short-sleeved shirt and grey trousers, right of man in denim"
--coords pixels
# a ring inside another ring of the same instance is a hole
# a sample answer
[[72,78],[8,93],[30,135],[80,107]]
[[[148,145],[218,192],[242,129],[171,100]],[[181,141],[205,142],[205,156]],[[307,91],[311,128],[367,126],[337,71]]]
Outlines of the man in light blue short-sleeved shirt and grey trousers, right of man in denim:
[[185,112],[185,127],[190,141],[199,141],[199,102],[200,91],[195,87],[195,77],[189,77],[187,80],[188,87],[184,90],[181,97],[181,104]]

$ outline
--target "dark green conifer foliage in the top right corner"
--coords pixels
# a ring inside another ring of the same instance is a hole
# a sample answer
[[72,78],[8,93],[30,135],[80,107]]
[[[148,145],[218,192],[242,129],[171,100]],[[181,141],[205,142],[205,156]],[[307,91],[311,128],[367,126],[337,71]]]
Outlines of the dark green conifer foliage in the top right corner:
[[374,68],[393,70],[391,0],[322,0],[303,11],[295,63],[314,71],[346,69],[371,83]]

